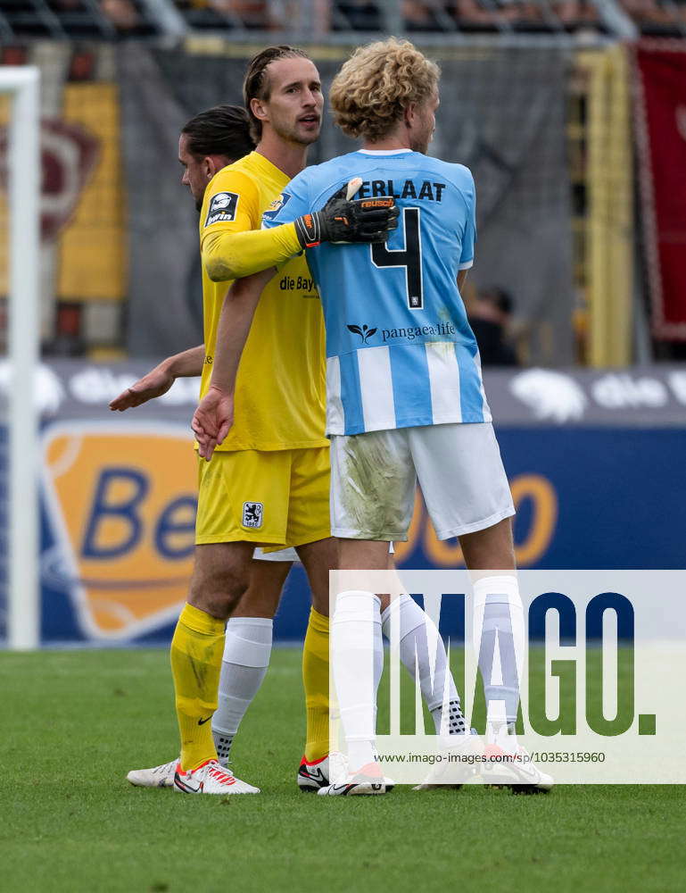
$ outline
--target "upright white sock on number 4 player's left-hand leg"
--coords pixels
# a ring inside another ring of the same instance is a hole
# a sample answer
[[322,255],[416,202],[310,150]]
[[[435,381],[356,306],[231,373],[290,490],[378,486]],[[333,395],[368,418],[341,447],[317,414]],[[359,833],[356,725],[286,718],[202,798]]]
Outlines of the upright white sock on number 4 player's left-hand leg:
[[340,593],[331,621],[331,657],[351,772],[376,760],[376,689],[384,666],[381,602],[373,592]]

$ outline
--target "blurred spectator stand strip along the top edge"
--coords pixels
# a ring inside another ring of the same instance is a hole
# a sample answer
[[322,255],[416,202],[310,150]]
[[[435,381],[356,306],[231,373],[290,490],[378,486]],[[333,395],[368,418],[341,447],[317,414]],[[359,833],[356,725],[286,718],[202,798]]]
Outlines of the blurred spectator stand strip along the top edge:
[[291,0],[3,0],[0,42],[178,37],[184,31],[287,32],[310,29],[310,15],[319,35],[396,29],[415,35],[579,31],[616,31],[624,38],[686,35],[684,0],[401,0],[397,8],[370,0],[304,5]]

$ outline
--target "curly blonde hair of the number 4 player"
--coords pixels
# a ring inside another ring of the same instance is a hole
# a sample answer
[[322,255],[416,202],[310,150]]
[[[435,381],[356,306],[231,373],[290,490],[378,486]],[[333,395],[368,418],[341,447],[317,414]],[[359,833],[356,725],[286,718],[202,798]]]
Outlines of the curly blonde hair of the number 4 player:
[[335,76],[329,97],[335,123],[349,137],[383,139],[410,103],[434,92],[441,71],[409,40],[360,46]]

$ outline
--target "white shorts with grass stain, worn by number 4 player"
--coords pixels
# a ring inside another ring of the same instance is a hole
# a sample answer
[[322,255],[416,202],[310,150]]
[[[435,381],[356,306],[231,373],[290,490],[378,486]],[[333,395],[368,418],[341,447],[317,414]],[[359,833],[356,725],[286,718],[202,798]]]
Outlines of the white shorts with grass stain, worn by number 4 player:
[[405,541],[417,480],[439,539],[515,513],[490,421],[333,435],[332,536]]

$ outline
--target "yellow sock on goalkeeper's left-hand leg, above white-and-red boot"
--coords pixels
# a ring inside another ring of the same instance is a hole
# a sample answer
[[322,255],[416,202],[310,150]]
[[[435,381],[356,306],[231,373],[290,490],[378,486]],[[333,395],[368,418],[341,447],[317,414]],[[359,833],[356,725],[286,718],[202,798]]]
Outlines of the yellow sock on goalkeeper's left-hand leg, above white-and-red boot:
[[210,720],[217,709],[224,627],[224,621],[184,605],[171,640],[181,768],[186,772],[217,759]]

